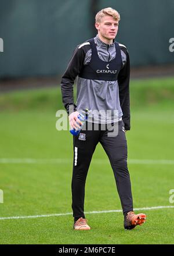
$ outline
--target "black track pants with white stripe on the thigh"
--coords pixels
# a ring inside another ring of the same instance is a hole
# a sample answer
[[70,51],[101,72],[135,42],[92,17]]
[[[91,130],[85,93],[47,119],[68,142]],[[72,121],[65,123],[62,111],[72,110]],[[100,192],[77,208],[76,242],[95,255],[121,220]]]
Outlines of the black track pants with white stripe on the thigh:
[[[92,125],[92,128],[91,128]],[[90,161],[97,143],[101,143],[113,168],[123,214],[133,211],[131,181],[127,166],[127,142],[124,131],[124,122],[117,123],[116,135],[109,137],[109,129],[104,130],[102,125],[95,130],[94,124],[89,123],[81,130],[78,136],[73,136],[74,161],[72,177],[72,208],[74,218],[84,217],[85,182]],[[102,166],[101,166],[102,167]]]

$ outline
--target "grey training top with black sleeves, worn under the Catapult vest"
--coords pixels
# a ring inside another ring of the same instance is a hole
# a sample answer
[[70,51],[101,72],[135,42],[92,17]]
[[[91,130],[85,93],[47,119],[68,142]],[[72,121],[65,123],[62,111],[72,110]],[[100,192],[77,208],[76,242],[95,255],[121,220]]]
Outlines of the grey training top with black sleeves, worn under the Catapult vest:
[[[105,44],[98,35],[94,40],[97,54],[102,61],[110,62],[115,57],[117,58],[114,42],[110,45]],[[104,81],[84,79],[78,76],[84,65],[88,65],[92,56],[90,42],[86,41],[78,45],[61,79],[61,93],[68,113],[70,106],[73,106],[74,111],[89,108],[89,122],[111,123],[122,118],[125,130],[130,130],[129,54],[125,45],[119,44],[119,47],[121,48],[122,68],[118,73],[118,80]],[[76,77],[77,102],[74,103],[73,84]],[[100,115],[96,112],[100,112]]]

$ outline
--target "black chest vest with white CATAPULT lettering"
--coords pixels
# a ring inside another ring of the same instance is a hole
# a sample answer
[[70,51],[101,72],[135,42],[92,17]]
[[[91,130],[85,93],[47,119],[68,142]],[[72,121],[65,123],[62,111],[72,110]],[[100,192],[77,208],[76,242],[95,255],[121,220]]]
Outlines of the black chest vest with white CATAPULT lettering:
[[118,42],[115,42],[116,58],[110,62],[99,58],[94,38],[88,42],[90,42],[92,56],[88,65],[84,65],[78,76],[90,80],[116,81],[122,67],[121,48]]

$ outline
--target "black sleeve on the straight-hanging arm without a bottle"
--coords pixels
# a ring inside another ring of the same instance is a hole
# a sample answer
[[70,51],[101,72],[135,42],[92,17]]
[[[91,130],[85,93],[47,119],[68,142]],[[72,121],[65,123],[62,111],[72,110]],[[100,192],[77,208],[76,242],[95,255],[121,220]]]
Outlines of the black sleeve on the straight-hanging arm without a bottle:
[[126,64],[118,74],[119,101],[122,109],[122,120],[125,130],[131,129],[130,97],[129,97],[130,61],[126,51]]

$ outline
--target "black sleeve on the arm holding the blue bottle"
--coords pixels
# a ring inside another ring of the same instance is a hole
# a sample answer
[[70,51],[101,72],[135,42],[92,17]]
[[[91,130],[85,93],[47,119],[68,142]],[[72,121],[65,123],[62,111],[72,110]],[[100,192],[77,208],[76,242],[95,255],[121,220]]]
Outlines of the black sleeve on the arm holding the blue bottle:
[[74,80],[81,72],[84,66],[85,52],[82,48],[78,47],[74,50],[73,56],[71,57],[67,69],[61,78],[61,95],[64,107],[69,114],[69,106],[71,106],[74,111],[77,106],[74,104],[74,91],[73,85]]

